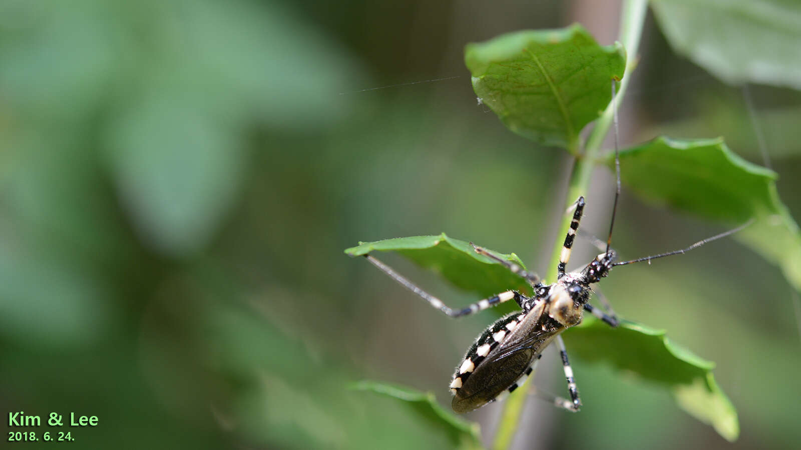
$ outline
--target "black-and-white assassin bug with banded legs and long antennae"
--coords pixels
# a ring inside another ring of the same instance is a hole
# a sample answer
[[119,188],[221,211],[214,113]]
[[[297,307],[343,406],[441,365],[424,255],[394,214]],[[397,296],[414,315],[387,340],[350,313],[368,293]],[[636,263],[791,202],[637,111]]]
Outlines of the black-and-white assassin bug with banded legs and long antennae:
[[[612,101],[614,103],[614,82],[612,83]],[[615,169],[617,175],[617,191],[614,197],[612,219],[610,231],[606,239],[606,248],[599,245],[602,253],[595,257],[590,263],[579,271],[566,271],[566,265],[570,261],[570,252],[573,248],[574,240],[578,232],[578,225],[582,219],[584,207],[586,205],[584,197],[579,197],[574,203],[573,219],[567,231],[562,247],[562,254],[557,266],[557,280],[554,283],[546,284],[539,276],[533,272],[524,271],[516,263],[501,259],[481,247],[473,246],[473,250],[481,255],[485,255],[497,263],[505,266],[513,274],[525,279],[533,288],[533,296],[528,297],[518,291],[505,291],[494,295],[488,299],[482,299],[468,307],[453,309],[448,307],[437,297],[423,291],[420,287],[405,279],[402,275],[392,270],[380,260],[371,255],[364,255],[370,263],[384,271],[396,282],[413,291],[421,298],[431,304],[431,306],[444,312],[449,317],[461,317],[473,314],[477,311],[485,310],[489,307],[497,306],[513,299],[522,311],[505,315],[495,323],[485,329],[473,345],[469,348],[465,357],[461,360],[459,367],[453,374],[453,380],[449,386],[453,392],[451,407],[455,412],[469,412],[476,408],[493,401],[499,400],[501,396],[513,392],[523,384],[525,379],[531,375],[537,361],[541,358],[542,351],[551,342],[555,341],[559,347],[559,354],[562,357],[562,365],[568,384],[570,399],[553,397],[551,400],[559,408],[568,411],[578,412],[582,402],[578,395],[578,388],[573,376],[573,369],[567,356],[564,341],[561,333],[569,327],[574,327],[581,323],[583,311],[608,323],[611,327],[618,326],[618,318],[610,307],[610,304],[602,296],[598,295],[606,311],[592,306],[590,295],[593,294],[592,284],[598,283],[602,278],[609,275],[612,267],[622,266],[630,263],[640,263],[651,259],[658,259],[669,255],[677,255],[690,251],[696,247],[731,235],[751,222],[745,223],[740,227],[714,235],[690,245],[690,247],[680,250],[668,251],[658,255],[650,255],[643,258],[631,259],[628,261],[617,261],[617,253],[611,248],[612,230],[614,228],[614,216],[617,211],[618,197],[620,196],[620,165],[618,158],[618,139],[617,139],[617,110],[614,108],[614,127],[615,127]]]

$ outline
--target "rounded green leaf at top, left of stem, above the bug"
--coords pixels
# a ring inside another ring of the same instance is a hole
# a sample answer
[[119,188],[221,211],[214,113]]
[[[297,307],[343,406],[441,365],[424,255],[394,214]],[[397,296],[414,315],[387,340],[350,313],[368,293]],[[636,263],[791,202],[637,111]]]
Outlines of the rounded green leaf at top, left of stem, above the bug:
[[501,121],[537,143],[574,147],[623,76],[622,47],[599,46],[582,26],[523,30],[465,47],[473,90]]

